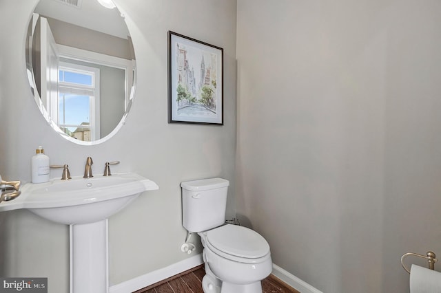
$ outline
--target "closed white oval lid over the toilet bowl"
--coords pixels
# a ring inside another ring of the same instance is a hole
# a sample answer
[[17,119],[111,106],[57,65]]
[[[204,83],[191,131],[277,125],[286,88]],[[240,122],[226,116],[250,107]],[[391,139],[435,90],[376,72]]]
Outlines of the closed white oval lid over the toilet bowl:
[[269,253],[265,238],[242,226],[220,226],[209,230],[206,239],[214,248],[236,257],[256,259]]

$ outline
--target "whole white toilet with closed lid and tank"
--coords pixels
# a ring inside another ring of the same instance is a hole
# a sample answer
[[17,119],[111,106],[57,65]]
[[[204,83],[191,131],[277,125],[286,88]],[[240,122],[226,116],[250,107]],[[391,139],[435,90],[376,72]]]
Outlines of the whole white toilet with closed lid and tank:
[[205,293],[262,292],[272,271],[265,238],[254,230],[225,224],[229,181],[209,178],[182,182],[183,226],[198,233],[204,247]]

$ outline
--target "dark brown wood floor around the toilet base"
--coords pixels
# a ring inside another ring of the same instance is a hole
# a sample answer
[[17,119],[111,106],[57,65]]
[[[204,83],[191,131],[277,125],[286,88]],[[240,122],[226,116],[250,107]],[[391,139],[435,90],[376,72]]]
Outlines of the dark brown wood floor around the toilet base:
[[[199,265],[134,293],[203,293],[203,276],[205,276],[205,270],[203,265]],[[263,293],[300,293],[272,274],[262,281],[262,290]]]

